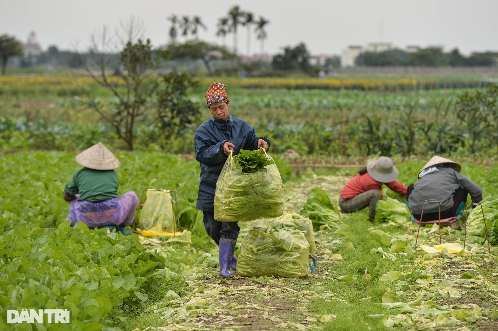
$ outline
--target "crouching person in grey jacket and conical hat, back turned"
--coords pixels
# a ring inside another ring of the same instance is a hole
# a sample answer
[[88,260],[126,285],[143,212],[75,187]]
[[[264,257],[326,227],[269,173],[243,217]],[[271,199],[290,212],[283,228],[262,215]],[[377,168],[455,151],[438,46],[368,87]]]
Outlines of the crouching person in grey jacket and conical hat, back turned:
[[[418,181],[408,186],[406,197],[413,216],[420,220],[425,200],[441,202],[441,219],[457,216],[463,211],[470,194],[472,203],[481,202],[483,189],[460,173],[462,166],[454,161],[434,156],[418,174]],[[422,221],[439,220],[439,205],[425,205]]]

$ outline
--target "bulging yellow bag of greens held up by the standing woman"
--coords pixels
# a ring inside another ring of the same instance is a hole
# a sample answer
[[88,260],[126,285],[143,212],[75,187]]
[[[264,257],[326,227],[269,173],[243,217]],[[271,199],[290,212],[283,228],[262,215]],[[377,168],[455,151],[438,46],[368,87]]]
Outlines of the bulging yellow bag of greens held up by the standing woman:
[[232,154],[228,157],[216,182],[215,219],[246,222],[283,214],[280,172],[273,159],[260,151],[241,150],[236,160]]

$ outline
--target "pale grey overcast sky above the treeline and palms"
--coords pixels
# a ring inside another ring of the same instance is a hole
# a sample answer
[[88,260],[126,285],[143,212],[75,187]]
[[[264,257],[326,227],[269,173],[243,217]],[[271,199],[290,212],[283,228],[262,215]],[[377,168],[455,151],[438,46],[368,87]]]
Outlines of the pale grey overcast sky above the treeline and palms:
[[[25,41],[33,30],[43,49],[71,49],[76,43],[84,49],[92,32],[103,25],[114,30],[135,15],[144,22],[145,36],[159,46],[168,40],[166,17],[174,13],[201,16],[208,30],[200,38],[221,43],[216,22],[235,4],[270,21],[264,47],[271,54],[301,41],[312,54],[340,54],[348,45],[373,41],[458,47],[465,54],[498,50],[498,0],[3,0],[0,34]],[[243,54],[246,35],[241,27]],[[227,37],[227,45],[232,40]],[[256,52],[259,42],[253,36],[251,53]]]

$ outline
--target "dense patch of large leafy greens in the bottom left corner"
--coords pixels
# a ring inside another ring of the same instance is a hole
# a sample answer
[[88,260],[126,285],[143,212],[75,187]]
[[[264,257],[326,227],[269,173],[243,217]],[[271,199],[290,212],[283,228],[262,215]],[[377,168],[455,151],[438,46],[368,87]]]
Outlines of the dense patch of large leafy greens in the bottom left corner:
[[48,233],[14,229],[0,236],[0,328],[14,329],[7,309],[68,309],[71,323],[51,329],[101,330],[113,307],[146,301],[144,289],[163,275],[164,259],[134,236],[69,222]]

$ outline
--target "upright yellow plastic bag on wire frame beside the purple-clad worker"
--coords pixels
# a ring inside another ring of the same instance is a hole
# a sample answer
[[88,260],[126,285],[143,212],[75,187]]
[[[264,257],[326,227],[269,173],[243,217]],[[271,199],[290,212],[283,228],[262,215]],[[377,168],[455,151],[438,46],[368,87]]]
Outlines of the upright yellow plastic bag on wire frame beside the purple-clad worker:
[[171,193],[148,189],[138,219],[137,232],[143,236],[175,236],[175,215]]

